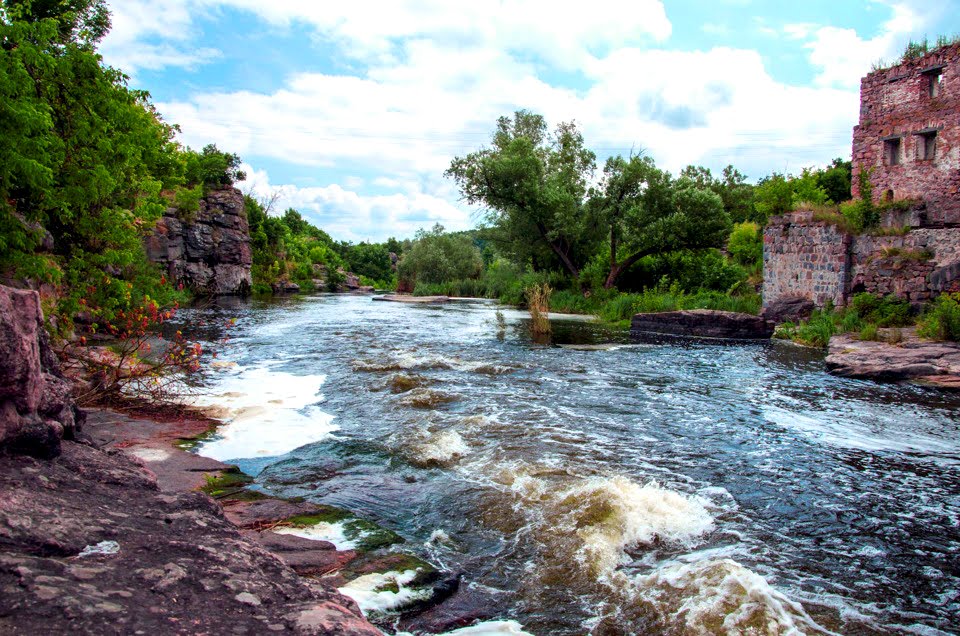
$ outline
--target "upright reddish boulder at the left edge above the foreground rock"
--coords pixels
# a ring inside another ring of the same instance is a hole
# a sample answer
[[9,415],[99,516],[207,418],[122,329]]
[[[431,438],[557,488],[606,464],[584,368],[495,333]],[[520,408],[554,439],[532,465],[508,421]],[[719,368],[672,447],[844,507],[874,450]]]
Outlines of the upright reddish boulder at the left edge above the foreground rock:
[[0,285],[0,450],[56,457],[82,424],[43,329],[40,295]]

